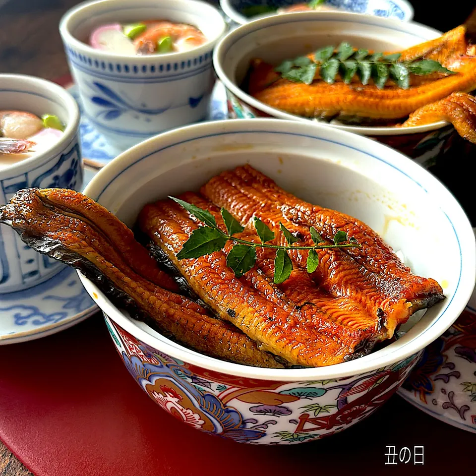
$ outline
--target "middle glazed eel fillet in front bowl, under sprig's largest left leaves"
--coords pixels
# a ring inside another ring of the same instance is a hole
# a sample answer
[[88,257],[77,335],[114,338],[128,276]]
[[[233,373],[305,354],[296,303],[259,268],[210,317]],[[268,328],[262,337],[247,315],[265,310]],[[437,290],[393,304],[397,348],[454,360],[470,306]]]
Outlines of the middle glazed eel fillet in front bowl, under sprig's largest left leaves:
[[[203,206],[203,198],[188,192],[184,200]],[[208,204],[224,230],[219,210]],[[262,349],[295,365],[322,366],[368,353],[365,331],[326,320],[313,305],[298,305],[268,278],[264,266],[235,277],[225,251],[178,260],[176,255],[200,222],[172,200],[146,205],[138,218],[140,229],[160,246],[192,290],[222,319],[227,319],[258,342]],[[244,237],[256,239],[249,231]],[[371,338],[373,335],[370,336]]]

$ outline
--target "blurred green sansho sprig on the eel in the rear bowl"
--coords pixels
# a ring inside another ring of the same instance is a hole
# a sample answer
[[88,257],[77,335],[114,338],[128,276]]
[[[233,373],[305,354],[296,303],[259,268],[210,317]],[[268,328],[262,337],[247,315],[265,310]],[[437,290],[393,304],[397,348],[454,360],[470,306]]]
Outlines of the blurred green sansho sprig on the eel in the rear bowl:
[[400,88],[410,87],[410,74],[424,76],[430,73],[454,74],[435,60],[400,61],[400,53],[384,56],[383,53],[369,53],[368,50],[356,50],[343,42],[337,48],[326,46],[314,52],[314,61],[307,56],[294,60],[285,60],[275,68],[285,79],[311,84],[316,71],[323,81],[332,84],[339,74],[349,84],[358,76],[363,85],[373,79],[377,88],[382,89],[387,79],[392,79]]

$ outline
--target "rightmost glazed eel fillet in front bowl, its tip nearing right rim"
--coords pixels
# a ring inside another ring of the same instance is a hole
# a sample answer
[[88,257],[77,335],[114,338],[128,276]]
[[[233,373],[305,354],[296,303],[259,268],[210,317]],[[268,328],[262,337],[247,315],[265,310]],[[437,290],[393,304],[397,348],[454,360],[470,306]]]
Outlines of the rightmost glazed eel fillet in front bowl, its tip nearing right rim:
[[[307,284],[303,292],[307,294],[306,300],[322,307],[336,322],[354,329],[370,327],[376,340],[392,337],[395,329],[416,310],[444,298],[435,280],[412,274],[364,223],[299,200],[249,165],[214,177],[201,193],[219,207],[227,208],[243,226],[257,216],[275,232],[276,244],[285,244],[279,222],[300,238],[297,245],[312,243],[311,226],[327,242],[332,242],[338,231],[356,238],[360,248],[317,250],[320,265],[312,274],[314,290]],[[289,254],[295,268],[305,269],[307,251]],[[295,286],[297,293],[303,290],[300,286],[302,281]],[[326,299],[330,304],[336,303],[337,309],[325,308]],[[354,307],[346,309],[344,303]]]

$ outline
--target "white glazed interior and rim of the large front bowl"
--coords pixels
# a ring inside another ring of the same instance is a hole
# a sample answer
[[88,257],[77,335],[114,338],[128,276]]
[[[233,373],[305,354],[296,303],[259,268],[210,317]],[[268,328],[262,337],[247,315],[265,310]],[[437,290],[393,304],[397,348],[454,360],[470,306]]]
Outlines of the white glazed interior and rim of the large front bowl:
[[464,212],[425,170],[365,137],[273,119],[188,126],[121,154],[85,192],[133,226],[146,203],[196,190],[219,172],[244,163],[300,198],[366,222],[394,249],[402,250],[417,274],[438,280],[447,299],[429,309],[403,338],[369,356],[329,367],[274,370],[224,362],[171,343],[127,317],[83,278],[100,307],[143,342],[181,360],[233,375],[292,381],[335,377],[413,355],[449,327],[464,308],[474,286],[476,259],[473,231]]

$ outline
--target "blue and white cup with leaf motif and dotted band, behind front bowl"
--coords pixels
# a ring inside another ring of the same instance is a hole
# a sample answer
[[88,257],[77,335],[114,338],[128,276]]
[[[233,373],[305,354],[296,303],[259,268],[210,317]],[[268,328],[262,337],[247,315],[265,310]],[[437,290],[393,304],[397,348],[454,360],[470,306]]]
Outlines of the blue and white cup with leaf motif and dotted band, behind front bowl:
[[[87,44],[101,25],[154,19],[191,24],[208,41],[188,52],[145,56]],[[216,8],[197,0],[99,0],[72,8],[61,19],[60,34],[84,114],[118,152],[205,119],[214,84],[212,50],[225,27]]]

